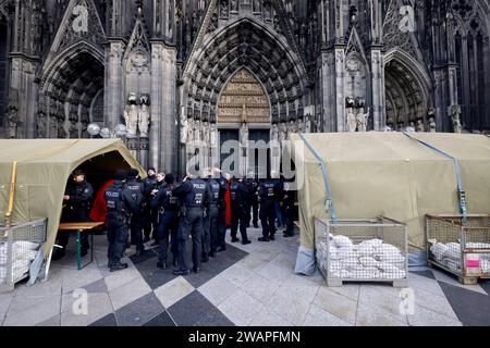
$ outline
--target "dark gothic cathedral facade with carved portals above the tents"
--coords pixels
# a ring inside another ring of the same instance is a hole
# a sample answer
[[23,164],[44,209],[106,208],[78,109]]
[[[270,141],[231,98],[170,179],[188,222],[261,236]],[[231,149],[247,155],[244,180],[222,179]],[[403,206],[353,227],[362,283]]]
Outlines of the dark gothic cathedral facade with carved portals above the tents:
[[181,173],[197,140],[487,132],[489,35],[489,0],[0,0],[0,137],[125,124]]

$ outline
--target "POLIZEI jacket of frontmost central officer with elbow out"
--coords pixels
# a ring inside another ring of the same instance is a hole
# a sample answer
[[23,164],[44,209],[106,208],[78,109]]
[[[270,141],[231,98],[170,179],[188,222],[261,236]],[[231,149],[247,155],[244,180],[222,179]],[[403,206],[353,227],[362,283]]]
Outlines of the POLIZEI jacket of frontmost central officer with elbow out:
[[173,196],[180,198],[186,208],[208,209],[211,201],[209,185],[201,178],[192,178],[176,186]]

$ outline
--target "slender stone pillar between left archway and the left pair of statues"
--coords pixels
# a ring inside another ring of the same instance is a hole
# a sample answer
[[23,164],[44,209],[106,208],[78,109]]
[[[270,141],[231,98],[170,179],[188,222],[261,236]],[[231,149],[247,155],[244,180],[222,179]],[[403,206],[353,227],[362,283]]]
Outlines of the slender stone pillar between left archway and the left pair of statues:
[[103,102],[106,110],[106,126],[114,129],[121,123],[125,100],[127,96],[122,95],[122,55],[124,54],[123,42],[111,40],[106,49],[106,71]]

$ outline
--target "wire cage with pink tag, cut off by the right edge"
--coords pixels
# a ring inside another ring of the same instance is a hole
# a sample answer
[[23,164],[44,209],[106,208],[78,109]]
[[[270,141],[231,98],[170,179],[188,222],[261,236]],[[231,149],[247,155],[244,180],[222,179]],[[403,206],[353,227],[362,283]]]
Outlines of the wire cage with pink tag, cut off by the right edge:
[[490,277],[490,215],[426,216],[427,258],[463,284]]

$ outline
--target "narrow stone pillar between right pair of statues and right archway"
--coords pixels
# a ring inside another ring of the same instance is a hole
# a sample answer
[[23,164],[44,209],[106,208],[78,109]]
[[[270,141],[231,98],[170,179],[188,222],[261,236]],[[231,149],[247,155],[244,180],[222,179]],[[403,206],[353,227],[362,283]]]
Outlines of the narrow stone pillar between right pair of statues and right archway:
[[384,94],[384,62],[380,48],[371,49],[371,98],[368,104],[372,110],[372,127],[382,130],[387,125],[387,108]]

